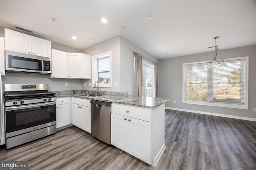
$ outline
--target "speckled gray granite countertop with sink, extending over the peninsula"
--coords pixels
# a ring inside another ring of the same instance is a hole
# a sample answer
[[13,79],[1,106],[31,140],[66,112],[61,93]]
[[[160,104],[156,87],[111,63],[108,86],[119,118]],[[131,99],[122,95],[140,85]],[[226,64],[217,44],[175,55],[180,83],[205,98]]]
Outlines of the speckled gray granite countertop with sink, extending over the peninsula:
[[56,98],[62,97],[75,97],[82,98],[88,100],[99,100],[102,102],[111,102],[115,104],[123,104],[129,106],[136,107],[144,107],[144,108],[155,108],[158,107],[165,102],[167,102],[168,98],[153,98],[153,97],[142,97],[142,96],[110,96],[110,95],[102,95],[102,96],[87,96],[86,94],[56,94]]

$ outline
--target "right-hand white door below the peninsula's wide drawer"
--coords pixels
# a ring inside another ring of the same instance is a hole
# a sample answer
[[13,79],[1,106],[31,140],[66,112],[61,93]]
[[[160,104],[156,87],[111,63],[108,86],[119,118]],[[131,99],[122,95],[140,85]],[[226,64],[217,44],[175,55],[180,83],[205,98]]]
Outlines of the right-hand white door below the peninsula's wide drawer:
[[128,117],[128,153],[151,164],[151,123]]

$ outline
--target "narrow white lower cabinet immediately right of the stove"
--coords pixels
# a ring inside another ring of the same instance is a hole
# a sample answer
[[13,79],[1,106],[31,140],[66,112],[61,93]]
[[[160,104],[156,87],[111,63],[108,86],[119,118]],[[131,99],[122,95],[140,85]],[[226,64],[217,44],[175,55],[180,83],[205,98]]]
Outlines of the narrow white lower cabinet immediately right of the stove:
[[68,98],[56,99],[56,128],[69,125]]

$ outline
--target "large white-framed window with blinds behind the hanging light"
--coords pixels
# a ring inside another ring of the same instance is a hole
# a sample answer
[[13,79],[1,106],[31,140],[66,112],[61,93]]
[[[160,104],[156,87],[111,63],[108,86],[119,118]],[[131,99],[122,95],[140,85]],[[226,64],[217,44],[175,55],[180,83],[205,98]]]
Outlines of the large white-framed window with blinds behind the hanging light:
[[248,109],[248,57],[225,61],[226,67],[214,68],[183,64],[183,103]]

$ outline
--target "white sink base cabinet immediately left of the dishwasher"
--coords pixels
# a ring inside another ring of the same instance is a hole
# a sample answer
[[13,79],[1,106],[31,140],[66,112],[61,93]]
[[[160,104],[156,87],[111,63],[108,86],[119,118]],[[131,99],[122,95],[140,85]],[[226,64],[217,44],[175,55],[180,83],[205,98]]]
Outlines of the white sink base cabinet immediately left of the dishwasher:
[[72,98],[72,124],[91,133],[90,100]]

